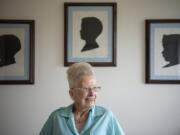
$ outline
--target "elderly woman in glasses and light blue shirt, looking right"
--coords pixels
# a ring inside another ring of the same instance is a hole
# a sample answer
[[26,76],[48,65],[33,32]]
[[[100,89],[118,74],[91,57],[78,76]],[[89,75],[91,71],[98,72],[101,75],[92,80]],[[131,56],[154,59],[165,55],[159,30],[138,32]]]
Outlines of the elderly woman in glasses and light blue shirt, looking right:
[[101,87],[88,63],[75,63],[67,70],[73,104],[54,111],[40,135],[125,135],[110,110],[96,106]]

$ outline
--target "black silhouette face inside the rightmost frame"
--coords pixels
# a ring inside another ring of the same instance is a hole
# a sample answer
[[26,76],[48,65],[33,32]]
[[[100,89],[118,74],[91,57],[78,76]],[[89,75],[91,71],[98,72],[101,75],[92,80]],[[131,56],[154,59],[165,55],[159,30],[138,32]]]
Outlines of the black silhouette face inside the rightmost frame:
[[163,35],[162,55],[169,63],[164,68],[180,64],[180,34]]

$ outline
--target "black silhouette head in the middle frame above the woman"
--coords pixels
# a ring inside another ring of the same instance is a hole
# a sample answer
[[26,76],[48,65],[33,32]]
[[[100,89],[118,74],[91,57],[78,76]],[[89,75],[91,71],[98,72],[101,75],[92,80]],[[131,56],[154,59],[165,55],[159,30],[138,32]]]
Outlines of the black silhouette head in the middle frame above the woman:
[[81,39],[85,40],[86,44],[82,48],[81,52],[96,49],[99,45],[96,42],[96,38],[102,32],[102,22],[96,17],[85,17],[81,23]]

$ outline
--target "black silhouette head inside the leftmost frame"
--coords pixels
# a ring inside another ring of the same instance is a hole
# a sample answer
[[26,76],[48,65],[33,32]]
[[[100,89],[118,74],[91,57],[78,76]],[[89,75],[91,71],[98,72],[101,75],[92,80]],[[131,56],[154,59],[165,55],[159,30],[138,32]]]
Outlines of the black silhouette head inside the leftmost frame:
[[21,49],[21,43],[15,35],[0,36],[0,67],[16,63],[15,54]]

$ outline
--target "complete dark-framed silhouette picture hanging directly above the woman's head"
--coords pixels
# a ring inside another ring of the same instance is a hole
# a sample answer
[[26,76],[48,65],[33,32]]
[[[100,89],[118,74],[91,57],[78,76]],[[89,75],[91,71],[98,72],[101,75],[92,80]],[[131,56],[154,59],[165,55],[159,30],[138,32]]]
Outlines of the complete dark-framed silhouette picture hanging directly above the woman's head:
[[116,66],[117,3],[64,3],[64,66]]

